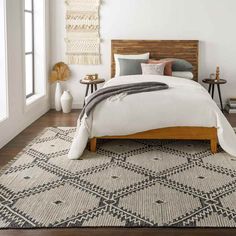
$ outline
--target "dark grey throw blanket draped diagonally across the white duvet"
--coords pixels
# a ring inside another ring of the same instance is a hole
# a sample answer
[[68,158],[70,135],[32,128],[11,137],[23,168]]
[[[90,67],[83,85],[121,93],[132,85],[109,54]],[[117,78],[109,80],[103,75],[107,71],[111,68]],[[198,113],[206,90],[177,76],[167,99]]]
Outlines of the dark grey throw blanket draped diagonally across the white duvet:
[[164,83],[143,82],[133,84],[122,84],[99,89],[86,100],[85,106],[80,114],[80,121],[83,119],[84,116],[88,117],[91,111],[96,107],[96,105],[98,105],[105,99],[117,100],[122,99],[125,96],[131,94],[154,92],[168,88],[169,86]]

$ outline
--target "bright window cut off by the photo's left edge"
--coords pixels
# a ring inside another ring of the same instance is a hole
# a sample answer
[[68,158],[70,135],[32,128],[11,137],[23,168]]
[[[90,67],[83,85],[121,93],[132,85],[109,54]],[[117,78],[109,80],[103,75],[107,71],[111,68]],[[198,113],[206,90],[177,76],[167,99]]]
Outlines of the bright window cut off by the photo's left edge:
[[0,0],[0,121],[8,115],[6,47],[5,0]]

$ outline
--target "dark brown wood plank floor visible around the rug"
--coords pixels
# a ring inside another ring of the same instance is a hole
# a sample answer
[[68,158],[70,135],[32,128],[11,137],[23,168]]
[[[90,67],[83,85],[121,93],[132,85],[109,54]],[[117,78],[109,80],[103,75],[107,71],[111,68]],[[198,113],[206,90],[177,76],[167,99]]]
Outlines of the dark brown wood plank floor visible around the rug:
[[[53,110],[42,116],[21,134],[0,150],[0,167],[12,160],[44,128],[74,127],[79,117],[79,110],[70,114]],[[236,127],[236,115],[225,114],[233,127]],[[236,229],[48,229],[48,230],[0,230],[0,236],[235,236]]]

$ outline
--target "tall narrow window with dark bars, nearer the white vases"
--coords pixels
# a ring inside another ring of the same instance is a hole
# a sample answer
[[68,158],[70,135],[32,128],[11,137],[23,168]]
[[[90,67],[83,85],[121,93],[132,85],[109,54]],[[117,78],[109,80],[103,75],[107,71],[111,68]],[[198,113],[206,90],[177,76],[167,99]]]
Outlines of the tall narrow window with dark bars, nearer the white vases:
[[35,93],[34,0],[25,0],[25,85],[26,98]]

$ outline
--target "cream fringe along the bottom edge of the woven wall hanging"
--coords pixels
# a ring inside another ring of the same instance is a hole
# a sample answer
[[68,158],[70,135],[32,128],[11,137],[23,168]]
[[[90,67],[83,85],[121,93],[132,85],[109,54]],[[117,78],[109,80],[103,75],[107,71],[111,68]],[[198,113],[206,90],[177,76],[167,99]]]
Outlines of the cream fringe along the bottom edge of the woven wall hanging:
[[68,55],[69,65],[100,65],[101,55]]

